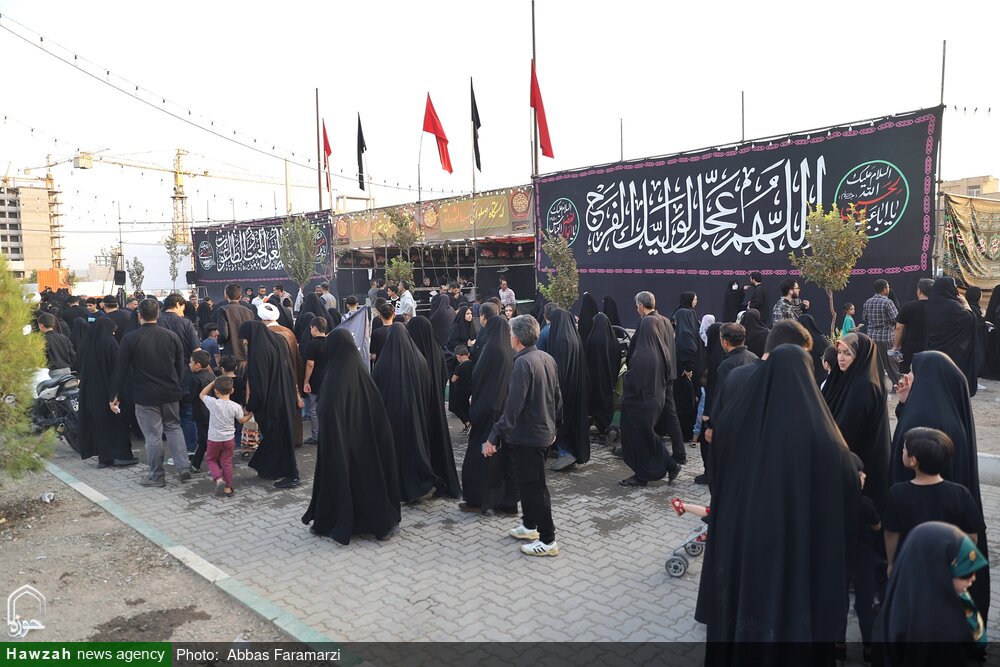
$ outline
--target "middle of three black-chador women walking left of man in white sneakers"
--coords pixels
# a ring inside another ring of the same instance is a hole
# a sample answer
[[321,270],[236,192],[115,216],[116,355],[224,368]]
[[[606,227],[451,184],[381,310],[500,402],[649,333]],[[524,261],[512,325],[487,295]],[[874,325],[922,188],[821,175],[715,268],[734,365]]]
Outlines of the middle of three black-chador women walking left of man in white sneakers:
[[431,467],[427,397],[434,391],[424,355],[402,322],[389,325],[389,337],[375,361],[372,379],[382,395],[392,426],[403,502],[420,500],[437,483]]

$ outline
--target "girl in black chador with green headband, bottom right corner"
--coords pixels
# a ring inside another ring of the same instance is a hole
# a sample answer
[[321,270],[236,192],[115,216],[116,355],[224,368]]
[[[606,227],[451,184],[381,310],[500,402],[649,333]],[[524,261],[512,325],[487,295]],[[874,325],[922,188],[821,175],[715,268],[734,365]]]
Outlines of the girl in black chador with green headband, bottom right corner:
[[982,662],[986,619],[965,589],[979,580],[987,565],[972,540],[955,526],[928,521],[914,528],[896,558],[875,619],[873,639],[881,664]]

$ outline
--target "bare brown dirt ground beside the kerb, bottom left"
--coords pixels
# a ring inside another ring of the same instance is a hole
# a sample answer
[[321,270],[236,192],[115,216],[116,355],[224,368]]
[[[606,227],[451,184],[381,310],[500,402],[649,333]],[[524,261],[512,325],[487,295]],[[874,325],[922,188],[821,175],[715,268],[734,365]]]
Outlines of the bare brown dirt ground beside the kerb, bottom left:
[[48,473],[0,484],[0,597],[31,584],[47,603],[27,639],[290,641]]

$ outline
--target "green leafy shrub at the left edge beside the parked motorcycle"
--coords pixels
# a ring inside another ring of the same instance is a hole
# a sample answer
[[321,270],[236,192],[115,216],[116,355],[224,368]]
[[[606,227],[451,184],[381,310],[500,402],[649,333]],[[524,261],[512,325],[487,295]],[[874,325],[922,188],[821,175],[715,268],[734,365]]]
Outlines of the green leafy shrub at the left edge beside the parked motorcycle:
[[0,471],[13,477],[40,469],[55,442],[52,431],[35,433],[31,426],[33,372],[45,367],[45,341],[30,332],[31,310],[0,255]]

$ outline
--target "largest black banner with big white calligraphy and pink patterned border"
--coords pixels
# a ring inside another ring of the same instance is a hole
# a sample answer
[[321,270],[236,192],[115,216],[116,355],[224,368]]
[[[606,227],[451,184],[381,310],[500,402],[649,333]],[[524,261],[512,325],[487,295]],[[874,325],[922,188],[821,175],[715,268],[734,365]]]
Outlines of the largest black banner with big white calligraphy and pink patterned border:
[[[694,290],[699,315],[718,316],[726,285],[751,271],[764,275],[774,303],[778,283],[796,274],[788,254],[805,245],[810,206],[853,203],[867,209],[870,241],[838,310],[853,299],[860,312],[879,277],[907,301],[930,271],[940,131],[938,107],[540,177],[538,234],[564,236],[581,291],[614,297],[626,320],[634,322],[632,299],[644,289],[667,314],[680,292]],[[549,266],[539,251],[538,270]],[[828,323],[826,297],[802,287]]]

